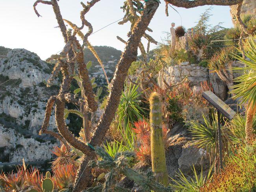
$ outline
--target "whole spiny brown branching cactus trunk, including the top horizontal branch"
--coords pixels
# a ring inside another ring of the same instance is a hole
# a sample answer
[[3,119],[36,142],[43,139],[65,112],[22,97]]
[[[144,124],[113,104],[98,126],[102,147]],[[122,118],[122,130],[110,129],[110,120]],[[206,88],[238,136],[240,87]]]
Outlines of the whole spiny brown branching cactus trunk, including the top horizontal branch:
[[[59,28],[61,30],[64,41],[66,43],[63,49],[63,52],[61,52],[60,55],[57,55],[59,63],[56,64],[56,67],[54,68],[54,71],[52,74],[52,76],[54,77],[56,76],[56,74],[58,74],[59,70],[61,70],[63,74],[62,85],[58,95],[52,96],[48,100],[48,103],[46,106],[45,119],[43,122],[43,126],[41,128],[40,134],[42,133],[51,134],[54,137],[61,140],[61,142],[63,142],[67,147],[71,145],[74,148],[83,152],[84,154],[83,161],[80,166],[79,172],[77,174],[76,183],[73,189],[74,192],[80,192],[81,190],[91,185],[92,175],[91,175],[91,170],[88,166],[88,162],[95,158],[95,153],[89,146],[100,145],[104,140],[106,131],[109,129],[109,126],[115,116],[115,112],[117,110],[122,89],[124,86],[124,81],[128,73],[128,69],[132,64],[132,62],[136,61],[137,49],[140,45],[141,37],[144,36],[146,39],[148,39],[149,42],[156,43],[156,41],[154,41],[154,39],[152,39],[149,35],[147,35],[145,31],[146,30],[152,31],[148,28],[148,25],[152,17],[154,16],[156,9],[158,8],[159,3],[158,3],[158,0],[147,1],[140,17],[136,15],[134,10],[132,10],[132,15],[136,17],[136,19],[133,20],[131,31],[128,33],[129,39],[126,42],[126,48],[122,53],[119,63],[117,64],[115,75],[111,82],[108,103],[106,105],[104,113],[102,114],[98,124],[96,125],[95,131],[93,133],[93,136],[91,137],[90,142],[86,144],[85,142],[82,142],[77,138],[75,138],[74,135],[70,133],[70,131],[68,130],[65,124],[64,111],[65,111],[65,103],[74,103],[76,105],[80,105],[82,111],[83,110],[89,111],[91,113],[95,112],[97,109],[95,95],[93,94],[91,81],[89,79],[88,71],[86,69],[86,64],[84,63],[83,46],[87,44],[88,37],[93,32],[93,28],[91,24],[85,19],[85,14],[90,10],[92,6],[96,4],[96,2],[99,2],[100,0],[91,0],[91,2],[87,2],[86,5],[81,2],[83,6],[83,10],[81,11],[81,14],[80,14],[81,20],[82,20],[82,26],[80,28],[75,27],[73,34],[71,34],[72,31],[67,30],[64,24],[57,1],[58,0],[51,0],[51,1],[37,0],[33,6],[35,13],[39,17],[40,15],[36,9],[36,6],[38,3],[52,5],[54,13],[56,15],[56,19],[58,21]],[[194,0],[194,1],[165,0],[165,2],[173,4],[174,6],[178,6],[178,7],[191,8],[191,7],[197,7],[197,6],[203,6],[203,5],[230,6],[234,4],[239,4],[243,1],[242,0]],[[132,6],[132,0],[128,0],[128,4],[129,6]],[[128,20],[129,18],[126,18],[122,21],[122,23],[125,23]],[[84,26],[87,26],[89,30],[84,35],[83,45],[81,46],[78,40],[76,39],[75,35],[80,30],[82,30]],[[149,50],[149,46],[147,50]],[[83,87],[83,94],[85,96],[82,98],[76,98],[76,96],[69,94],[69,87],[73,78],[75,64],[78,65],[79,76],[80,76],[80,79],[82,79],[81,87]],[[49,125],[51,110],[54,104],[56,105],[55,117],[56,117],[56,124],[57,124],[59,133],[53,133],[53,132],[51,133],[50,131],[47,130],[47,127]],[[84,105],[88,105],[88,106],[84,106]],[[83,114],[86,114],[86,112]],[[86,119],[85,119],[85,122],[86,122]],[[88,135],[87,135],[87,139],[89,139]]]

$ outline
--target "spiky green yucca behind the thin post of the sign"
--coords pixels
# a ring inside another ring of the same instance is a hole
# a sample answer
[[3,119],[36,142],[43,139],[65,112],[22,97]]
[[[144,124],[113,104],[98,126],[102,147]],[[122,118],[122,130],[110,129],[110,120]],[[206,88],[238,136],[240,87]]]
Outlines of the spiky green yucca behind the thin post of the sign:
[[[204,114],[202,114],[204,123],[198,124],[196,122],[191,122],[192,127],[190,129],[191,135],[194,140],[194,145],[198,148],[202,148],[207,151],[210,161],[214,160],[215,163],[215,171],[217,170],[217,159],[219,159],[218,154],[218,116],[217,113],[212,115],[212,120],[208,120]],[[230,130],[221,126],[221,138],[223,144],[223,156],[225,157],[229,153],[229,145],[230,145],[230,135],[232,133]]]

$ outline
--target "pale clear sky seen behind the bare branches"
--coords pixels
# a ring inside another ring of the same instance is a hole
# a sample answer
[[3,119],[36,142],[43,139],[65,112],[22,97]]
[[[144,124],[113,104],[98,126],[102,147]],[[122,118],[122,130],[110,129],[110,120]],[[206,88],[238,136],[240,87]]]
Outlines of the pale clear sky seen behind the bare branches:
[[[33,11],[35,0],[0,0],[0,46],[7,48],[25,48],[35,52],[43,60],[63,49],[64,41],[61,35],[52,6],[38,4],[37,11],[42,17],[37,17]],[[59,7],[63,18],[81,26],[80,11],[81,0],[59,0]],[[84,3],[87,0],[83,0]],[[93,25],[94,31],[116,21],[124,16],[120,7],[124,0],[101,0],[87,13],[86,18]],[[171,23],[176,26],[181,24],[185,28],[195,26],[199,15],[210,6],[201,6],[191,9],[174,7],[181,15],[178,15],[169,7],[169,17],[165,15],[165,3],[161,0],[160,7],[152,18],[148,32],[156,41],[161,42],[169,32]],[[228,6],[212,6],[210,24],[217,25],[223,22],[223,27],[233,26]],[[112,24],[89,37],[94,46],[111,46],[118,50],[124,50],[124,44],[117,40],[120,36],[127,40],[130,24]],[[86,33],[87,28],[83,29]],[[143,41],[146,43],[146,41]],[[147,46],[145,44],[145,46]],[[155,48],[153,44],[151,49]]]

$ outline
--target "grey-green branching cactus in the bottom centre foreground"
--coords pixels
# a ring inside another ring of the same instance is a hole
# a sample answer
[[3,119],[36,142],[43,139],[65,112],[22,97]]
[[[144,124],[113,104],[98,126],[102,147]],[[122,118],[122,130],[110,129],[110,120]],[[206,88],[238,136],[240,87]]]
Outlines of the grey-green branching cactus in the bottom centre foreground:
[[134,158],[135,153],[131,151],[124,151],[122,153],[117,153],[115,157],[111,157],[106,150],[100,147],[95,147],[97,155],[102,157],[102,159],[95,161],[90,161],[89,166],[91,168],[98,167],[106,169],[109,173],[106,175],[106,182],[103,185],[98,185],[90,187],[83,192],[100,192],[100,191],[115,191],[115,192],[131,192],[126,188],[121,188],[116,186],[117,181],[120,179],[121,175],[125,175],[128,179],[133,180],[137,185],[143,188],[143,191],[155,191],[155,192],[171,192],[171,186],[163,186],[155,177],[151,176],[145,177],[142,174],[134,171],[127,164],[127,158]]

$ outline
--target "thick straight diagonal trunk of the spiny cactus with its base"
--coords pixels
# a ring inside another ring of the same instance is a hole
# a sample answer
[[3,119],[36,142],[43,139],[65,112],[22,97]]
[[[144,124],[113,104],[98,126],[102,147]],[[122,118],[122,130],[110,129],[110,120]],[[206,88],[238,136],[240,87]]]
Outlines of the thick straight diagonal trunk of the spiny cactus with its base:
[[[135,27],[131,33],[131,36],[126,44],[126,48],[122,53],[121,59],[117,64],[114,78],[112,80],[111,91],[108,97],[108,104],[104,110],[104,113],[100,117],[98,125],[93,133],[90,144],[93,146],[100,145],[105,137],[106,131],[108,130],[112,119],[115,116],[117,110],[124,81],[127,76],[128,69],[133,61],[136,61],[137,48],[139,42],[145,31],[147,30],[148,24],[156,12],[159,4],[153,0],[146,2],[144,11],[141,18],[135,24]],[[87,163],[91,157],[95,154],[91,154],[89,157],[84,157],[84,160],[80,166],[80,170],[77,175],[76,185],[74,192],[80,192],[81,190],[88,187],[91,183],[91,169],[87,167]],[[79,182],[78,182],[78,178]]]

